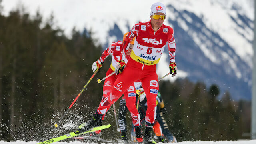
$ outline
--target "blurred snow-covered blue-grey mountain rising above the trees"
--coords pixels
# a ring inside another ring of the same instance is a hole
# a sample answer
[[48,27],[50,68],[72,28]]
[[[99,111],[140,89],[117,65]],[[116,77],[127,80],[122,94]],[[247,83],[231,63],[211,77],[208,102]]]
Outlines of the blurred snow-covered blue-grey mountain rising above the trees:
[[[81,31],[92,31],[97,44],[106,48],[109,43],[122,40],[134,24],[150,20],[150,6],[156,1],[3,0],[4,14],[20,2],[31,14],[39,9],[44,19],[53,13],[56,26],[67,35],[74,26]],[[228,90],[235,100],[250,100],[253,0],[159,2],[167,7],[164,24],[175,32],[177,77],[205,82],[207,87],[217,84],[222,94]],[[158,64],[159,76],[169,71],[167,50]]]

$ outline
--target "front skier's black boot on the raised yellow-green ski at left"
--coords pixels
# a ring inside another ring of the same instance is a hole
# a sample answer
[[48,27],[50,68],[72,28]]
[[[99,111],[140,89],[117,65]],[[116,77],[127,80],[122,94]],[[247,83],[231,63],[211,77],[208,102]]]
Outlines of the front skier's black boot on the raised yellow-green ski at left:
[[93,128],[98,123],[101,117],[102,115],[95,113],[94,116],[92,116],[91,120],[88,120],[86,123],[80,124],[77,131],[78,132],[88,131],[90,128]]

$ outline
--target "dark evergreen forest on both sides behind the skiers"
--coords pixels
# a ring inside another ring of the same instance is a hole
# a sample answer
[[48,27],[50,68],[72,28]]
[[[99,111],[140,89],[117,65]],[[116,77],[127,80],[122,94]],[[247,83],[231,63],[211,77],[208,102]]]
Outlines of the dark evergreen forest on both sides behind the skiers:
[[[39,12],[1,12],[0,8],[0,140],[40,141],[76,128],[102,98],[102,84],[96,80],[105,76],[110,58],[64,118],[64,124],[74,126],[56,130],[54,122],[89,80],[92,63],[103,49],[87,30],[74,28],[67,38],[53,26],[53,16],[42,22]],[[187,79],[162,81],[159,86],[167,107],[164,116],[177,140],[237,140],[250,132],[250,102],[232,101],[228,91],[219,96],[214,84],[207,88]],[[113,127],[112,112],[108,113],[104,123]],[[106,130],[105,136],[118,138],[112,133]]]

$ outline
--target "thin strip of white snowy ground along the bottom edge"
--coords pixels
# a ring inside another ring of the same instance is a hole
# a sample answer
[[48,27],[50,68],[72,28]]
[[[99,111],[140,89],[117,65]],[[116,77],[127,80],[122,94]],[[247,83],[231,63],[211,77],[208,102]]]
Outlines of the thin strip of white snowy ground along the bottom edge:
[[[24,141],[16,141],[16,142],[4,142],[0,141],[0,144],[37,144],[38,142],[24,142]],[[84,142],[55,142],[54,144],[85,144]],[[94,144],[94,143],[88,143]],[[248,141],[184,141],[178,142],[178,144],[256,144],[256,140],[248,140]]]

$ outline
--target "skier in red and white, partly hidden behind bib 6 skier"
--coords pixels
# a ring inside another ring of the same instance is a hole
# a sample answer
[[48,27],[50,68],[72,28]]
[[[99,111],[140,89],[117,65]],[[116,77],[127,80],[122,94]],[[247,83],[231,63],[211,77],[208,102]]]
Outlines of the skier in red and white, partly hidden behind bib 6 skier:
[[[128,34],[128,32],[126,34],[124,34],[124,38],[126,37],[127,34]],[[126,52],[126,60],[125,60],[126,62],[130,58],[130,53],[132,51],[133,44],[134,44],[134,40],[132,40],[130,42],[130,46],[128,47],[128,50]],[[121,54],[121,51],[122,51],[122,46],[123,46],[123,42],[121,42],[121,41],[111,43],[108,46],[108,48],[106,48],[106,50],[102,53],[100,58],[92,64],[92,71],[93,72],[95,72],[95,70],[99,71],[100,68],[102,67],[102,64],[103,64],[104,60],[108,57],[109,54],[112,54],[112,61],[111,61],[111,64],[110,64],[110,68],[106,72],[106,76],[108,76],[109,74],[114,72],[114,70],[115,70],[114,66],[116,66],[118,60],[120,60],[120,54]],[[97,113],[100,114],[100,115],[103,115],[103,116],[102,116],[102,119],[98,122],[97,125],[101,125],[102,120],[104,118],[104,115],[106,114],[106,112],[110,108],[109,103],[108,103],[108,96],[110,94],[112,86],[113,86],[117,77],[118,77],[118,75],[113,74],[112,76],[106,78],[106,80],[104,82],[102,100],[101,100],[100,105],[97,109]],[[126,90],[126,92],[124,92],[124,97],[126,98],[126,102],[128,103],[127,108],[131,113],[132,122],[133,122],[133,124],[136,128],[136,139],[138,140],[138,142],[143,142],[142,134],[141,134],[141,126],[140,126],[140,115],[139,115],[138,110],[135,106],[136,93],[135,93],[134,84],[131,84],[128,87],[128,89]],[[99,133],[99,132],[100,131],[98,131],[96,133]]]

